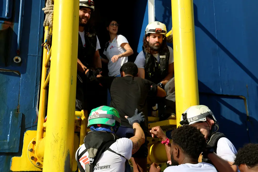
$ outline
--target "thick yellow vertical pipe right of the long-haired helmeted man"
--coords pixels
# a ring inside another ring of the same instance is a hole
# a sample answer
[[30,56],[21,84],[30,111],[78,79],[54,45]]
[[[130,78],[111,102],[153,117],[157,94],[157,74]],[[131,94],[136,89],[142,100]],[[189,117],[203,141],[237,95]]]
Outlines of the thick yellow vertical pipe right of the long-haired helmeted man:
[[182,113],[199,105],[192,0],[171,0],[175,71],[176,123]]

